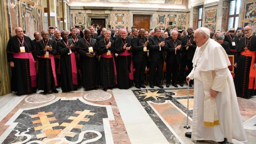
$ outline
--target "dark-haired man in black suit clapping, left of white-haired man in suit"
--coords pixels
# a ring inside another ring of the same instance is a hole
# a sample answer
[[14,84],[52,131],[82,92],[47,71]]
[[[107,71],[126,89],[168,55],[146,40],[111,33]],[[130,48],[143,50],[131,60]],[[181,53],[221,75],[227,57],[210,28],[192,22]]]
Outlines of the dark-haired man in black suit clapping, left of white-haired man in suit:
[[[154,82],[159,88],[163,88],[161,85],[163,61],[165,60],[165,37],[161,37],[161,29],[156,27],[154,30],[155,35],[148,38],[148,61],[150,62],[150,87],[154,88]],[[157,71],[156,71],[157,69]],[[156,72],[156,76],[155,76]]]

